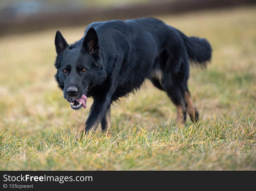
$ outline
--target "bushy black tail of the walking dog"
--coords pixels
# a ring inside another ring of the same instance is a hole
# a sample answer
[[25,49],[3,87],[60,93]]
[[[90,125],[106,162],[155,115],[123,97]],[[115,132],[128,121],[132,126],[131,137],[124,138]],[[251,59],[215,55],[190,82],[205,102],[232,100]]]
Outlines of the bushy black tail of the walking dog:
[[205,38],[187,37],[181,31],[177,32],[185,42],[189,59],[196,65],[206,67],[206,62],[211,60],[211,44]]

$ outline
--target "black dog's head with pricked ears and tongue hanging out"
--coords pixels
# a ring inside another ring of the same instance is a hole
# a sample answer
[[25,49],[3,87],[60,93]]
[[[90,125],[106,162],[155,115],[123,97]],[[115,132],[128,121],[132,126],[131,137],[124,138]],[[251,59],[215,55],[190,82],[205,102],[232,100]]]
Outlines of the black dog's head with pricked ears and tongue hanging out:
[[[79,43],[78,43],[79,44]],[[60,31],[56,32],[57,57],[55,75],[58,86],[63,90],[71,108],[86,108],[88,86],[100,84],[106,78],[101,65],[99,39],[94,28],[88,29],[82,44],[70,46]]]

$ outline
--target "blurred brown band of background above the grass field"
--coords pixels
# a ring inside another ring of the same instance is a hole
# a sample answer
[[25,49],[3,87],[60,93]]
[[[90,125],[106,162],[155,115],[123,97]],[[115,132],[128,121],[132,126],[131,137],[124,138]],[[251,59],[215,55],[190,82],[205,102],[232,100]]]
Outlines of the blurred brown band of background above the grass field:
[[179,14],[256,3],[255,0],[1,0],[0,35],[95,21]]

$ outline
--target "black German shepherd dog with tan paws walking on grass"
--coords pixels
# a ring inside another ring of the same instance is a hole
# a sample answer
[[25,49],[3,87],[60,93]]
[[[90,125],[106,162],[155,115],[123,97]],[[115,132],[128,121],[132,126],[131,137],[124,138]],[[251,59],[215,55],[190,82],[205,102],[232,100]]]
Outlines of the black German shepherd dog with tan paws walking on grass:
[[145,79],[175,104],[176,123],[186,123],[187,112],[198,120],[187,85],[189,60],[206,66],[212,51],[206,39],[187,37],[159,19],[141,18],[91,23],[83,38],[70,45],[57,31],[55,47],[55,78],[71,108],[86,108],[87,97],[94,100],[81,131],[100,122],[106,129],[113,101],[138,90]]

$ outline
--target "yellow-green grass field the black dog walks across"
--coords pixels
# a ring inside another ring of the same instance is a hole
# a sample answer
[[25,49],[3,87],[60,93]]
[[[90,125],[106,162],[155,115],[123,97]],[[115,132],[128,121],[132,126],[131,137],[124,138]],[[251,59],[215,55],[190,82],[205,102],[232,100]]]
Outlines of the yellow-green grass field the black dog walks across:
[[158,18],[212,44],[207,69],[191,68],[198,124],[175,126],[175,106],[146,81],[114,104],[107,133],[76,142],[89,109],[71,110],[57,88],[54,35],[61,30],[71,43],[86,26],[5,36],[0,169],[256,170],[256,7]]

